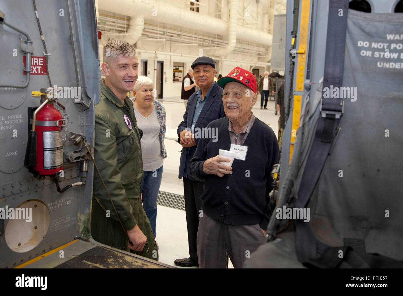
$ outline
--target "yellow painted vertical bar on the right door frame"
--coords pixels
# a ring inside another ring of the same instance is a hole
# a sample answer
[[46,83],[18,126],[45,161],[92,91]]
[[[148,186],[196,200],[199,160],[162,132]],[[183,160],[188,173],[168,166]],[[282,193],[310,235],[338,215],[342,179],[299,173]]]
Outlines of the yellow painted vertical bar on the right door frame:
[[[303,91],[303,81],[305,79],[306,67],[306,51],[308,48],[308,30],[309,30],[309,14],[311,9],[311,0],[301,0],[301,18],[299,23],[299,48],[297,50],[298,59],[295,64],[297,78],[295,80],[295,91]],[[301,95],[294,95],[293,99],[293,117],[291,127],[291,140],[290,140],[290,162],[293,156],[295,137],[297,136],[297,128],[299,126],[299,117],[301,116]]]

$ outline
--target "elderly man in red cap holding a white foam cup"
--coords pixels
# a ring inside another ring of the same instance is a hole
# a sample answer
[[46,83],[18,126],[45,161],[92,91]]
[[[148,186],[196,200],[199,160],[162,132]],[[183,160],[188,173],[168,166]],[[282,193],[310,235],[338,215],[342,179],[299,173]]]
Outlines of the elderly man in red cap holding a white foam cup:
[[[218,128],[218,141],[200,139],[189,170],[193,178],[204,181],[197,256],[200,268],[228,267],[228,256],[235,268],[241,268],[265,242],[271,215],[270,172],[278,163],[279,149],[273,130],[252,113],[257,99],[253,74],[236,67],[217,84],[224,89],[227,117],[208,125]],[[218,155],[220,149],[235,152],[232,164]]]

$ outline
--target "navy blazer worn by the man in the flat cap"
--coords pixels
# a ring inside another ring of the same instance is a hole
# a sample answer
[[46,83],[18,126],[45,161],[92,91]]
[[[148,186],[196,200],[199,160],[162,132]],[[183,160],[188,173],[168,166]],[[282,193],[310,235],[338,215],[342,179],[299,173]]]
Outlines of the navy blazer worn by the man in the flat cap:
[[[196,93],[193,93],[189,97],[187,101],[187,108],[185,114],[183,114],[183,121],[179,124],[177,134],[180,141],[180,133],[185,128],[191,128],[193,115],[195,114],[197,103],[197,96]],[[222,88],[218,86],[218,84],[214,81],[214,86],[210,92],[210,95],[206,99],[204,103],[202,112],[200,112],[199,118],[197,118],[197,122],[195,123],[195,128],[204,128],[213,120],[218,118],[222,118],[225,116],[224,107],[222,105]],[[189,149],[189,163],[190,159],[192,159],[193,154],[196,151],[196,147],[199,143],[199,139],[195,139],[196,145],[190,148],[183,147],[181,153],[181,163],[179,164],[179,179],[183,177],[183,172],[185,172],[185,164],[186,164],[186,157],[187,157],[187,150]],[[190,180],[196,181],[194,178],[191,177],[190,174],[187,176]]]

